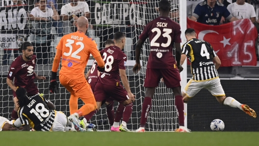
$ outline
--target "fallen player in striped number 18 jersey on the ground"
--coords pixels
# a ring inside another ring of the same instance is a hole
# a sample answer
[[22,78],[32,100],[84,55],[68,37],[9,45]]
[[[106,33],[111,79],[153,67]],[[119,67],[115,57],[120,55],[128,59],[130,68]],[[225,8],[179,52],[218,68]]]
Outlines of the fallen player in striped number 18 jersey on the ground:
[[15,127],[23,126],[23,131],[29,131],[31,126],[36,131],[75,131],[67,124],[66,115],[54,110],[54,104],[40,95],[27,96],[25,88],[16,90],[18,98],[19,119],[14,122]]

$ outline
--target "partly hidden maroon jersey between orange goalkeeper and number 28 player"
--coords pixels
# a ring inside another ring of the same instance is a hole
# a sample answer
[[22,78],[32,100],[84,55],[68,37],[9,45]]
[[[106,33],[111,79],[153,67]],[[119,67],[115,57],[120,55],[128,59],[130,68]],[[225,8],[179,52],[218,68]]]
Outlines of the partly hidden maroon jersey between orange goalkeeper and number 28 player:
[[90,86],[92,88],[92,91],[94,91],[95,83],[98,78],[98,70],[97,70],[98,65],[95,63],[96,63],[96,60],[94,60],[94,62],[93,62],[91,71],[90,71],[90,73],[88,75],[88,79],[87,79],[88,83],[90,84]]

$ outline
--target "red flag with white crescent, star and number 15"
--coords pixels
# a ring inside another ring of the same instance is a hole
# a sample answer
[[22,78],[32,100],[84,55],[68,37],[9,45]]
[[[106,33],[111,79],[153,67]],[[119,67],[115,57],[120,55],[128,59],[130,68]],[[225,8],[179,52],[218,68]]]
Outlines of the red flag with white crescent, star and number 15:
[[258,32],[251,20],[212,26],[187,19],[187,28],[193,28],[198,39],[210,43],[221,60],[221,67],[257,65]]

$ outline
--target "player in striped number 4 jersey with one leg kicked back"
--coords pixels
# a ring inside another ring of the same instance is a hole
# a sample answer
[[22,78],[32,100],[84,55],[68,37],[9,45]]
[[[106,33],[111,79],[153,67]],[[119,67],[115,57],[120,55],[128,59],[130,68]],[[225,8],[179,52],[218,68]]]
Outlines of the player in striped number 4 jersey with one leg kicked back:
[[[233,97],[225,96],[217,73],[221,62],[210,44],[196,39],[197,34],[192,28],[185,30],[185,37],[187,43],[181,48],[181,64],[183,64],[187,56],[191,62],[193,76],[182,91],[183,101],[187,103],[191,97],[194,97],[201,89],[205,88],[216,97],[219,103],[239,108],[249,116],[256,118],[256,112],[248,105],[239,103]],[[184,110],[186,112],[186,109]]]

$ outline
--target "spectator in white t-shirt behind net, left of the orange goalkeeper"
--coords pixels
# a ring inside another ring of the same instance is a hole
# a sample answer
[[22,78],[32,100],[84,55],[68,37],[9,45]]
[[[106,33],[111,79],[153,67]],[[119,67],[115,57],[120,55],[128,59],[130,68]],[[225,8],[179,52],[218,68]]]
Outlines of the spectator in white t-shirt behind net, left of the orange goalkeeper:
[[37,64],[48,64],[49,52],[52,42],[52,20],[59,20],[59,15],[50,2],[52,9],[46,7],[46,0],[37,0],[38,7],[31,10],[29,20],[32,22],[32,45],[37,56]]

